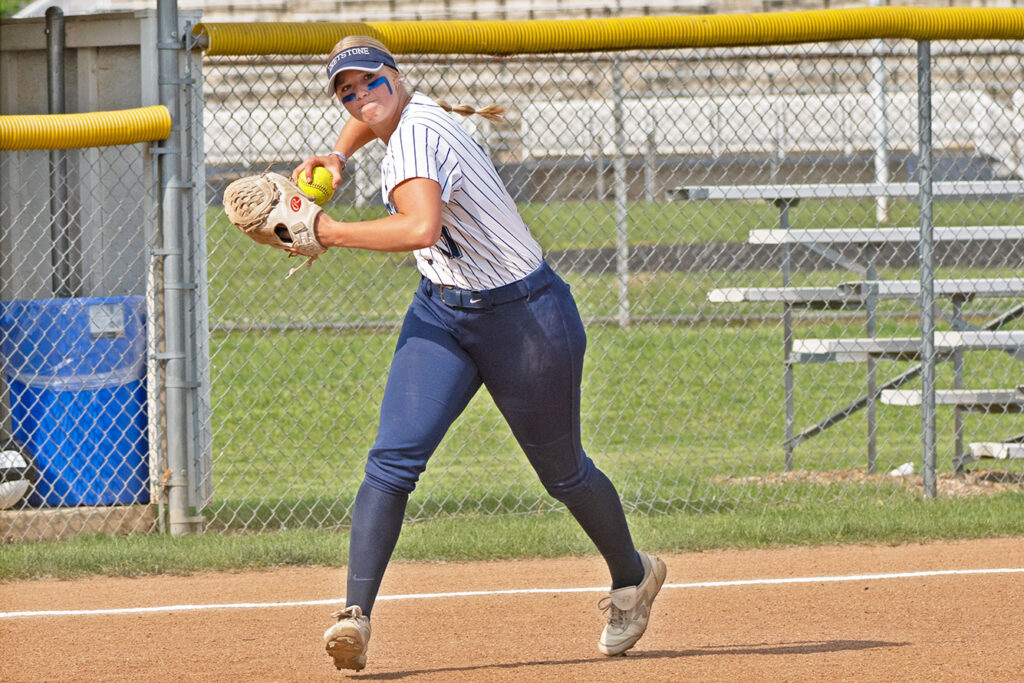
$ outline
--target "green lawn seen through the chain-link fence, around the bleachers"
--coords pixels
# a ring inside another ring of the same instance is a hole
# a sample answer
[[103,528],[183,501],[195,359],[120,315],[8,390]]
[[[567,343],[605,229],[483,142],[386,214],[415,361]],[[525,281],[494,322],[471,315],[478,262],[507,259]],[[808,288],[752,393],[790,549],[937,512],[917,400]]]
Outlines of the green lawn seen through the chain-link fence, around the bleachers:
[[[525,204],[523,216],[547,250],[609,247],[613,206],[600,202]],[[763,202],[675,202],[628,207],[633,244],[743,242],[751,229],[776,227],[777,210]],[[382,214],[381,207],[333,206],[339,218]],[[937,222],[1017,222],[1019,206],[1000,202],[938,202]],[[214,409],[216,529],[336,527],[347,521],[376,430],[377,409],[396,330],[419,275],[409,255],[329,253],[312,270],[285,281],[282,255],[240,239],[211,209],[209,238]],[[806,202],[791,215],[797,227],[876,224],[872,202]],[[892,223],[913,225],[916,207],[896,202]],[[915,268],[883,278],[916,279]],[[1013,268],[946,268],[937,276],[1011,276]],[[780,309],[773,304],[722,305],[707,300],[716,287],[778,287],[781,273],[639,272],[629,281],[628,329],[602,325],[618,313],[613,273],[565,272],[588,326],[583,432],[588,453],[608,471],[631,509],[719,510],[757,501],[803,500],[793,490],[723,487],[721,475],[778,471],[782,420]],[[797,272],[794,284],[857,280],[843,270]],[[992,316],[977,300],[972,322]],[[947,305],[947,304],[946,304]],[[880,305],[880,335],[920,334],[913,302]],[[716,316],[720,323],[703,322]],[[760,319],[759,319],[760,318]],[[675,321],[675,323],[673,323]],[[261,329],[279,325],[288,330]],[[250,326],[247,328],[247,326]],[[303,326],[322,326],[301,329]],[[323,326],[333,326],[324,328]],[[798,337],[864,336],[862,313],[803,311]],[[940,324],[940,328],[942,325]],[[298,329],[296,329],[298,328]],[[909,368],[879,364],[879,381]],[[973,354],[969,384],[996,386],[1014,377],[1005,354]],[[810,426],[864,390],[861,366],[795,369],[797,428]],[[950,386],[951,368],[939,368]],[[915,385],[908,385],[912,387]],[[879,468],[920,458],[918,411],[879,407]],[[951,412],[938,416],[939,463],[952,459]],[[969,416],[968,435],[1001,434],[1006,417]],[[800,446],[796,467],[823,471],[864,467],[862,414]],[[416,519],[496,511],[550,510],[536,476],[489,398],[481,392],[441,443],[411,505]],[[822,501],[888,500],[888,489],[816,490]],[[658,506],[651,507],[651,501]]]

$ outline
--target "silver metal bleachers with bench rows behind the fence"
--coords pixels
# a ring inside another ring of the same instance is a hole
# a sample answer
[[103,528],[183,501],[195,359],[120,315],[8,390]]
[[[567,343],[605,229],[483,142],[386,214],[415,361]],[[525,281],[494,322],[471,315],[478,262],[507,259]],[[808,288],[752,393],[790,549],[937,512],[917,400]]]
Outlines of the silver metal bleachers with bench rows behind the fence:
[[[877,459],[876,411],[877,402],[894,405],[920,405],[921,391],[902,390],[899,387],[919,376],[921,366],[879,386],[876,361],[880,359],[918,360],[921,357],[920,337],[878,337],[876,306],[884,299],[915,300],[921,295],[920,281],[892,281],[878,278],[876,256],[878,247],[893,243],[916,243],[916,227],[864,227],[794,229],[790,223],[790,209],[802,200],[870,199],[879,197],[913,197],[918,183],[861,183],[861,184],[806,184],[806,185],[723,185],[708,187],[680,187],[670,194],[683,200],[763,200],[772,202],[779,209],[778,227],[752,230],[749,242],[774,245],[781,252],[782,287],[778,288],[726,288],[716,289],[708,299],[717,303],[777,302],[783,310],[783,384],[785,401],[785,468],[793,468],[794,451],[809,439],[850,415],[865,410],[867,414],[868,444],[867,468],[873,472]],[[1024,182],[1016,180],[982,180],[936,182],[936,197],[988,197],[1024,195]],[[1024,226],[937,226],[936,242],[964,242],[971,240],[1020,241]],[[846,245],[858,247],[860,262],[837,251]],[[859,273],[862,278],[830,287],[793,287],[792,250],[796,247],[812,250],[825,259]],[[935,352],[938,360],[952,360],[953,388],[937,393],[937,405],[950,405],[954,413],[953,464],[959,471],[973,458],[1011,457],[1024,455],[1020,443],[972,443],[971,455],[964,449],[964,413],[1019,413],[1024,405],[1024,393],[1016,389],[964,388],[965,351],[998,350],[1024,360],[1024,331],[1000,330],[1007,323],[1024,315],[1024,305],[1016,305],[982,327],[974,326],[963,317],[963,305],[975,298],[1024,297],[1024,279],[962,279],[934,281],[936,298],[948,299],[952,312],[946,315],[951,331],[936,332]],[[796,308],[861,308],[865,310],[866,336],[845,339],[795,339],[793,310]],[[867,366],[867,387],[862,396],[817,422],[804,431],[796,432],[794,409],[794,366],[808,362],[862,362]],[[1024,439],[1022,439],[1024,440]]]

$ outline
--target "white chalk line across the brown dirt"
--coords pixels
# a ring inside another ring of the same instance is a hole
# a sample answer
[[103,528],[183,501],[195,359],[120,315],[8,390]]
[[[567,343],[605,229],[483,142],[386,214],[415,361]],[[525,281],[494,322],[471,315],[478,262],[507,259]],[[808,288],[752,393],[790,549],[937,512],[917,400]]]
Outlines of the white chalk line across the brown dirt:
[[[1024,573],[1024,567],[996,569],[939,569],[933,571],[901,571],[895,573],[863,573],[845,577],[793,577],[786,579],[740,579],[735,581],[705,581],[692,584],[666,584],[665,589],[728,588],[734,586],[778,586],[784,584],[835,584],[842,582],[887,581],[894,579],[925,579],[932,577],[962,577],[971,574]],[[452,593],[406,593],[382,595],[385,600],[434,600],[438,598],[471,598],[495,595],[534,595],[539,593],[607,593],[600,588],[521,588],[497,591],[457,591]],[[268,609],[271,607],[310,607],[317,605],[344,605],[344,598],[326,600],[298,600],[294,602],[226,602],[199,605],[159,605],[154,607],[118,607],[110,609],[43,609],[37,611],[0,612],[0,618],[29,618],[39,616],[96,616],[104,614],[146,614],[153,612],[205,611],[211,609]]]

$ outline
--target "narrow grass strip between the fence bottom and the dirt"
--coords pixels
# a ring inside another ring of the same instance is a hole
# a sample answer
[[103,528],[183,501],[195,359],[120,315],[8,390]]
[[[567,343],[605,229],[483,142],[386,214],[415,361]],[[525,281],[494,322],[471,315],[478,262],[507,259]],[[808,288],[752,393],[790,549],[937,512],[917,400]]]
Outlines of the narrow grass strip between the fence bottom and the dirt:
[[[1022,494],[922,501],[906,495],[886,505],[743,506],[699,513],[632,514],[637,545],[653,552],[888,544],[1024,535]],[[0,581],[52,577],[188,574],[280,566],[342,566],[345,530],[259,535],[78,537],[62,543],[0,547]],[[464,561],[596,555],[563,512],[464,516],[407,524],[394,561]]]

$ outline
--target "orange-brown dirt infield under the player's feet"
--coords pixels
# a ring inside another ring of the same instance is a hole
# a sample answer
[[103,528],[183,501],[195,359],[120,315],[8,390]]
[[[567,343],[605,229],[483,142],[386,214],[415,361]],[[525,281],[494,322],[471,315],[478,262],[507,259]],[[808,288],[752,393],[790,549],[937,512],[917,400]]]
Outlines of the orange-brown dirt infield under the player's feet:
[[[601,593],[586,590],[607,582],[598,558],[393,564],[358,674],[321,649],[329,604],[195,607],[336,598],[339,569],[0,584],[0,680],[1024,678],[1024,538],[663,557],[647,634],[612,658],[596,648]],[[159,609],[9,616],[143,606]]]

